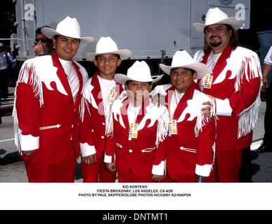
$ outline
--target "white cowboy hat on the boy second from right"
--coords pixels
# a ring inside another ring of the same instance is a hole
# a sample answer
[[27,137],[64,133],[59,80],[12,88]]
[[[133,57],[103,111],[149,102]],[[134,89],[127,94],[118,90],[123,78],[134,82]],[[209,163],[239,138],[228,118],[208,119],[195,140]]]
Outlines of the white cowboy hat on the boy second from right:
[[190,57],[186,50],[178,50],[175,52],[171,66],[165,64],[160,64],[160,68],[167,74],[170,74],[171,69],[184,68],[184,69],[193,69],[197,72],[197,78],[203,78],[209,72],[209,68],[206,64],[195,62],[195,60]]

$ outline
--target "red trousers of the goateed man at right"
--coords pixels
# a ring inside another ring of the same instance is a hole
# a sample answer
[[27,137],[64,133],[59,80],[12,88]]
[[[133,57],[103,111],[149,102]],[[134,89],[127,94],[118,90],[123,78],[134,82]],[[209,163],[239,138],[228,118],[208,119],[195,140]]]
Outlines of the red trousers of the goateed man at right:
[[236,150],[215,151],[218,181],[238,183],[242,162],[242,148]]

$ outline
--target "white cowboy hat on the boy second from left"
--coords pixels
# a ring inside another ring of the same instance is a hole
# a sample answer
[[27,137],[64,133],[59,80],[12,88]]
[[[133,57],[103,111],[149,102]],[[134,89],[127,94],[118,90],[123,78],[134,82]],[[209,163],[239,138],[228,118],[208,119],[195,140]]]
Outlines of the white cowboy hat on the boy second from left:
[[120,55],[120,58],[124,60],[130,57],[131,51],[127,49],[118,50],[117,43],[110,36],[102,36],[96,44],[96,52],[85,52],[84,56],[92,62],[97,55],[103,54]]

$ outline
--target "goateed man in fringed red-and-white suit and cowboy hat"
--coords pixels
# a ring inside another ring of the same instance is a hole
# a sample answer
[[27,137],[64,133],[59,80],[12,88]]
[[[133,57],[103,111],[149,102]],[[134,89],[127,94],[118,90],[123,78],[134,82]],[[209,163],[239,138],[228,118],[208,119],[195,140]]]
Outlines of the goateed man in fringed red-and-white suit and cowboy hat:
[[238,182],[243,148],[250,151],[252,130],[260,104],[261,68],[252,50],[238,46],[236,30],[242,21],[210,8],[205,24],[193,23],[205,35],[205,49],[195,60],[209,73],[198,81],[216,102],[216,166],[219,182]]

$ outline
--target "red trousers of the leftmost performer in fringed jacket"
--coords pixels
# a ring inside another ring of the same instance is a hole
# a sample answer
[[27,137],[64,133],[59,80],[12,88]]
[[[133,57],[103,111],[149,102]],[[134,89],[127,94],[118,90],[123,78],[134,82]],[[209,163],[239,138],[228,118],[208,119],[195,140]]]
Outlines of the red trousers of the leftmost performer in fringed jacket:
[[75,153],[63,162],[53,165],[25,161],[25,169],[30,183],[72,183],[75,181],[76,166]]

